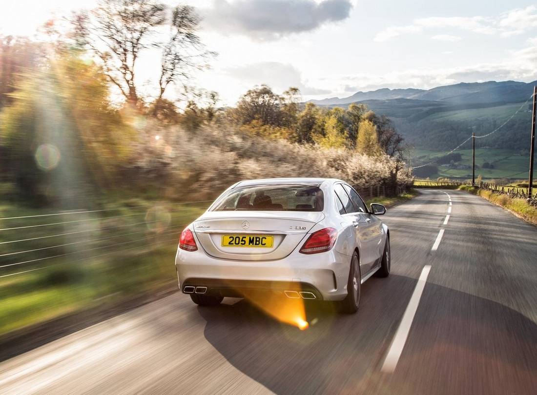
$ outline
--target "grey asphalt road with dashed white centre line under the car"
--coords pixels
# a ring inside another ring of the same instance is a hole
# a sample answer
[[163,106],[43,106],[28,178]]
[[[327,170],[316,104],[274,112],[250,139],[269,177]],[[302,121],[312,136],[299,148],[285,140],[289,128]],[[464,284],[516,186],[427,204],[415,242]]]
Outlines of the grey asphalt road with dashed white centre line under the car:
[[177,293],[4,361],[0,393],[535,394],[537,229],[446,192],[383,217],[392,272],[357,314],[311,305],[299,331]]

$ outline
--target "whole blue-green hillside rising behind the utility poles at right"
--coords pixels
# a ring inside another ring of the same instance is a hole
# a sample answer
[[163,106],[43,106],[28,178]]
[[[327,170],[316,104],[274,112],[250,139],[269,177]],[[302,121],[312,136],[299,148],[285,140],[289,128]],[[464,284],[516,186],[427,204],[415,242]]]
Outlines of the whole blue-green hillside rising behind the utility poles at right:
[[[513,177],[520,178],[520,174],[527,171],[531,128],[531,103],[524,103],[531,98],[534,85],[537,81],[460,83],[429,90],[379,89],[357,92],[346,98],[311,101],[323,107],[365,104],[375,113],[388,116],[405,141],[416,149],[411,158],[414,165],[431,162],[431,158],[457,147],[473,132],[480,136],[497,130],[486,138],[477,139],[476,148],[490,153],[489,161],[493,161],[498,152],[502,152],[502,157],[516,160],[510,159],[513,163],[504,160],[496,163],[494,170],[480,171],[484,177],[507,177],[518,173]],[[470,144],[468,142],[460,150],[471,148]],[[418,155],[424,150],[430,155]],[[431,175],[465,177],[467,171],[462,173],[465,171],[438,167],[438,172]]]

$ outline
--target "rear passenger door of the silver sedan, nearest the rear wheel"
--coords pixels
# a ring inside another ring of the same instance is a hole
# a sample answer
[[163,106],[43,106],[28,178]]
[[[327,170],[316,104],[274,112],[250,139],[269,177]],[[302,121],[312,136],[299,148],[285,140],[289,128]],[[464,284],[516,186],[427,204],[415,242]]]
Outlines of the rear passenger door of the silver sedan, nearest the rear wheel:
[[367,251],[368,247],[365,244],[364,234],[367,231],[367,223],[362,218],[361,213],[358,213],[357,207],[352,203],[351,197],[345,191],[343,184],[334,185],[334,192],[345,208],[346,214],[342,215],[345,226],[349,226],[354,232],[354,243],[360,249],[360,273],[364,275],[371,269],[371,253]]

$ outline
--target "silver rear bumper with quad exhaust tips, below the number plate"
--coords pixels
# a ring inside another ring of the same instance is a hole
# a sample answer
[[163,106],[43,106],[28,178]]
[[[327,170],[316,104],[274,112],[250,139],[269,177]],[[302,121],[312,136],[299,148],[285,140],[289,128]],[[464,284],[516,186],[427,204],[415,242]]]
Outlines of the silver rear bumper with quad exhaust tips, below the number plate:
[[285,290],[293,290],[311,292],[318,300],[337,301],[347,295],[350,261],[351,257],[333,249],[313,255],[294,251],[273,261],[220,259],[202,250],[178,249],[175,264],[183,292],[184,287],[207,287],[207,294],[242,297],[251,291],[283,295]]

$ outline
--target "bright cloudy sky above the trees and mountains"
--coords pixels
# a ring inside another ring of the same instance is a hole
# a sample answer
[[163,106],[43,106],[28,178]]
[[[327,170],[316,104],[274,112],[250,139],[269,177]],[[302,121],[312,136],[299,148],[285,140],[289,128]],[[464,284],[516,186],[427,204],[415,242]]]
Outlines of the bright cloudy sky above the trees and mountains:
[[[164,0],[168,4],[177,4]],[[31,35],[52,13],[95,0],[3,2],[0,34]],[[46,4],[45,4],[46,3]],[[380,87],[537,79],[537,6],[509,0],[184,0],[219,53],[197,84],[224,104],[256,84],[306,99]],[[141,58],[150,86],[158,57]]]

